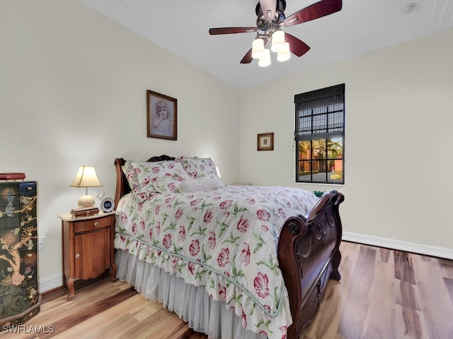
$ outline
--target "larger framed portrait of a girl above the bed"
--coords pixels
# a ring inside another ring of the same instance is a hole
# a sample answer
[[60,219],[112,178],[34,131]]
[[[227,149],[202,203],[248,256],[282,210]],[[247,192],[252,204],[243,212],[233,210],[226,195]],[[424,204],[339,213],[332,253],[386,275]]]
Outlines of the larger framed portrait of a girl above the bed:
[[178,100],[147,90],[147,136],[178,140]]

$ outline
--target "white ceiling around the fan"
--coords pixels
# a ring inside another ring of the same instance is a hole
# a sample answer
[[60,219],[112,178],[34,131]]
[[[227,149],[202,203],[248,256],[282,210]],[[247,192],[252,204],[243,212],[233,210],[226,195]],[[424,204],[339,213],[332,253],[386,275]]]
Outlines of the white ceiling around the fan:
[[[337,13],[282,30],[311,49],[262,68],[240,64],[255,32],[209,35],[210,28],[256,27],[258,0],[78,0],[214,76],[246,88],[453,27],[453,0],[343,0]],[[286,0],[285,16],[316,0]],[[415,2],[415,10],[401,9]],[[271,52],[271,54],[274,54]]]

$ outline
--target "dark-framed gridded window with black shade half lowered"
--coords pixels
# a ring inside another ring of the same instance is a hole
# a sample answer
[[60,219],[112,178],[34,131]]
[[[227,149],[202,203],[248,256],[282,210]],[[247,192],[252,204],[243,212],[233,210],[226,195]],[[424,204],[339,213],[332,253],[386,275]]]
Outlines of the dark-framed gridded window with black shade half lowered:
[[345,84],[294,95],[296,182],[344,184]]

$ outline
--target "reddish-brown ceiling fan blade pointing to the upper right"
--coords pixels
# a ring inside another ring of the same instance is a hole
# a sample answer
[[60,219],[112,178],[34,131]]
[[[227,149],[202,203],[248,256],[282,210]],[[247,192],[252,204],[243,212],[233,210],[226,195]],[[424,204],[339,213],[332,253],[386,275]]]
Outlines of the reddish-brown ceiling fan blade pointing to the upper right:
[[306,23],[306,21],[322,18],[329,14],[336,13],[343,6],[342,0],[321,0],[308,7],[302,8],[300,11],[288,16],[283,23],[285,26],[298,25]]

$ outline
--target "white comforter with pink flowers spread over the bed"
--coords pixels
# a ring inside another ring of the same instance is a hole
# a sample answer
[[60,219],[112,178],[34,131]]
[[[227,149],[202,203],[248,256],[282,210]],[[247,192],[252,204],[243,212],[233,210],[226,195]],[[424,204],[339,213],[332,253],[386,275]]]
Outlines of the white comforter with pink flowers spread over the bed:
[[285,338],[292,319],[277,262],[280,230],[319,201],[288,187],[223,186],[213,191],[123,196],[115,248],[204,286],[241,316],[243,327]]

